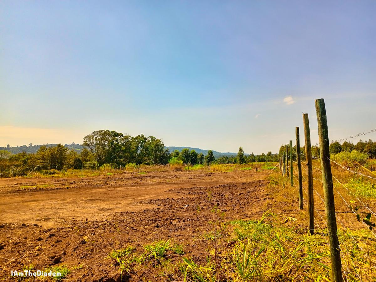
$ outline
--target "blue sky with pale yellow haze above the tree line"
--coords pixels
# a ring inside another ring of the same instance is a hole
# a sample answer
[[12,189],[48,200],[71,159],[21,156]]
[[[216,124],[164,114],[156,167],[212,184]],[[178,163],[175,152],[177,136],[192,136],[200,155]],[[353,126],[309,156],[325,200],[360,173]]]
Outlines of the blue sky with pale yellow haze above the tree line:
[[318,141],[318,98],[330,139],[374,129],[375,14],[375,1],[2,1],[0,146],[110,129],[277,152],[302,112]]

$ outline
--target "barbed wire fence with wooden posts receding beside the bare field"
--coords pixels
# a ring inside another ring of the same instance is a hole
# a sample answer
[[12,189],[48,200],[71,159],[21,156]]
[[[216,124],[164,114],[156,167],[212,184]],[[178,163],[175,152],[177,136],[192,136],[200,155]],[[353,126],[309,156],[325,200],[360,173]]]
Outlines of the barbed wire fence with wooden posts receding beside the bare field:
[[[361,270],[362,265],[359,264],[359,261],[354,260],[355,250],[361,250],[364,254],[361,260],[365,259],[367,264],[369,264],[368,270],[370,272],[368,273],[371,273],[371,276],[376,270],[376,260],[371,259],[370,251],[365,242],[365,240],[376,241],[376,233],[374,231],[374,228],[376,228],[376,202],[374,201],[376,199],[376,182],[374,182],[376,174],[372,172],[372,166],[370,169],[367,168],[367,165],[370,165],[372,161],[367,162],[364,167],[362,166],[364,162],[364,156],[362,155],[354,156],[349,154],[349,156],[340,155],[335,159],[329,158],[331,146],[329,146],[328,142],[329,130],[324,99],[316,100],[315,106],[320,152],[317,152],[317,146],[311,146],[308,114],[303,114],[305,150],[307,154],[298,150],[300,148],[299,127],[296,127],[296,149],[293,148],[290,140],[290,145],[286,145],[286,150],[281,153],[280,168],[282,177],[287,176],[291,181],[291,186],[295,188],[294,191],[297,191],[299,208],[303,208],[303,202],[308,207],[308,233],[313,235],[314,226],[318,225],[315,214],[327,227],[331,254],[331,278],[335,281],[343,281],[352,276],[356,277],[356,280],[362,281],[364,279]],[[371,132],[376,132],[376,129],[335,141],[347,141]],[[335,141],[332,141],[332,143]],[[289,147],[290,150],[288,150]],[[293,153],[293,150],[296,150],[296,153]],[[311,150],[314,156],[311,155]],[[370,150],[370,148],[367,150]],[[309,155],[310,158],[307,159],[306,155]],[[368,158],[369,156],[373,155],[368,154]],[[359,162],[356,161],[356,158],[359,159]],[[362,164],[360,160],[362,160]],[[357,168],[354,169],[353,166],[357,166]],[[303,173],[301,167],[303,167]],[[303,179],[306,184],[302,186]],[[297,183],[299,183],[299,187],[297,187]],[[359,188],[357,185],[361,187]],[[305,195],[303,195],[302,191],[304,191]],[[308,200],[306,201],[305,198]],[[307,202],[310,206],[308,206]],[[317,205],[323,205],[324,215],[317,209]],[[340,232],[337,223],[343,232]],[[359,234],[365,236],[365,239],[354,235],[356,233],[351,230],[361,232]],[[341,242],[338,239],[339,236],[342,236]],[[364,246],[367,246],[367,248],[364,248]],[[372,255],[376,256],[375,250],[373,250]],[[369,280],[368,277],[366,280]]]

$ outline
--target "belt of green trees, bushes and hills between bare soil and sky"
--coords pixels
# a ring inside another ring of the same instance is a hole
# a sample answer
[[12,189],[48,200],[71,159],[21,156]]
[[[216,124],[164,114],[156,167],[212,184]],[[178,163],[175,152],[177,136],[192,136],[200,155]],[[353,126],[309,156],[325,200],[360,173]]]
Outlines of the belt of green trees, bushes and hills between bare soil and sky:
[[[184,165],[208,165],[211,164],[244,164],[252,162],[277,162],[285,152],[285,145],[279,149],[279,153],[247,155],[240,147],[237,155],[220,155],[216,157],[215,151],[196,150],[183,148],[182,150],[170,150],[164,146],[161,139],[154,136],[146,137],[143,134],[132,137],[116,131],[99,130],[83,138],[83,144],[47,144],[20,147],[0,147],[0,176],[22,176],[31,171],[43,170],[67,170],[99,167],[124,167],[128,164],[133,166],[170,164],[177,169],[183,169]],[[19,152],[22,150],[21,152]],[[301,148],[304,152],[304,147]],[[376,142],[359,141],[356,145],[344,142],[342,145],[333,142],[330,145],[331,155],[367,156],[376,158]],[[202,152],[206,152],[204,155]],[[350,154],[350,152],[353,152]],[[358,153],[356,153],[358,152]],[[293,147],[293,153],[296,148]],[[217,155],[218,156],[218,155]],[[312,146],[312,156],[320,157],[318,146]],[[342,156],[342,157],[343,157]],[[294,155],[295,159],[295,155]],[[304,156],[303,156],[304,159]],[[358,158],[359,159],[359,158]],[[341,159],[343,162],[343,159]],[[362,160],[359,162],[363,162]]]

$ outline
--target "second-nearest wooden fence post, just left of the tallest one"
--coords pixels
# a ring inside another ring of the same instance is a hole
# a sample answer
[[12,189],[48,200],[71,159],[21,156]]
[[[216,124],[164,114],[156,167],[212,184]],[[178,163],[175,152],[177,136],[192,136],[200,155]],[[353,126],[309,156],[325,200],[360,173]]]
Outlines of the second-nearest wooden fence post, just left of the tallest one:
[[313,215],[313,173],[312,173],[312,154],[311,154],[311,133],[309,132],[308,114],[303,114],[304,138],[307,163],[307,181],[308,181],[308,231],[314,233],[314,215]]

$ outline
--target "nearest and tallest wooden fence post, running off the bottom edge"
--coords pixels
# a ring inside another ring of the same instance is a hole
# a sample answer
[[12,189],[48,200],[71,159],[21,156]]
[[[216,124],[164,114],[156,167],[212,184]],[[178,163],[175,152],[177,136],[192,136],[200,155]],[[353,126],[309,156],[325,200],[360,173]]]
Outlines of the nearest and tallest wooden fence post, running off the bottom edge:
[[342,282],[340,242],[338,241],[337,221],[335,219],[332,170],[329,160],[329,136],[324,99],[315,100],[315,106],[318,124],[318,140],[320,143],[321,169],[323,174],[325,213],[331,253],[331,276],[334,281]]

